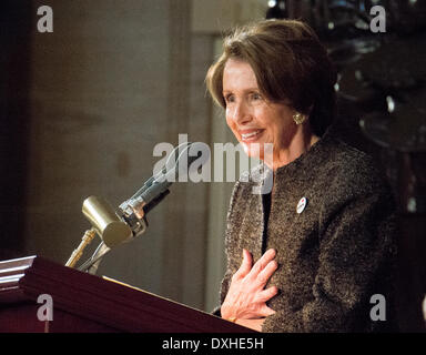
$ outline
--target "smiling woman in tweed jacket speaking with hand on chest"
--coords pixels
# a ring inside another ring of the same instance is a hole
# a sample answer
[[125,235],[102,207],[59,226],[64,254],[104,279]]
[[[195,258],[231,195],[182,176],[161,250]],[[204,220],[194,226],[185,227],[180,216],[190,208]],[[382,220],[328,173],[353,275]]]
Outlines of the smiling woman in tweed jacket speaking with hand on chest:
[[[328,130],[335,80],[315,33],[293,20],[234,31],[209,70],[227,125],[267,165],[231,197],[223,318],[263,332],[394,329],[392,194]],[[272,192],[253,194],[261,173]]]

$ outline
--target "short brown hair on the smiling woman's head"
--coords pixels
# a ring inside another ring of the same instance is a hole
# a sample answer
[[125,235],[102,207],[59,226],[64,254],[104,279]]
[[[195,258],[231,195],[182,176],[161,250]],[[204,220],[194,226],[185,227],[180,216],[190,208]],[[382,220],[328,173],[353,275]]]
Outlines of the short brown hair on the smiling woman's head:
[[315,32],[297,20],[264,20],[235,29],[224,39],[223,54],[209,69],[213,99],[223,98],[223,70],[230,58],[246,61],[260,91],[271,101],[290,101],[308,114],[313,132],[323,135],[335,115],[336,72]]

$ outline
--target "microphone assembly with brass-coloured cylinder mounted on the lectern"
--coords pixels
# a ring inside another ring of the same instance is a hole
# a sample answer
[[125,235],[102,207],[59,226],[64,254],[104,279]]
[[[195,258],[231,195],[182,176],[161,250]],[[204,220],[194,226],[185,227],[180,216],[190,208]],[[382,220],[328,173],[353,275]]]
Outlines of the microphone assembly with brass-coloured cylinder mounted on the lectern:
[[152,175],[132,197],[120,204],[119,211],[115,212],[106,200],[97,196],[88,197],[83,203],[82,212],[90,221],[92,229],[87,231],[78,250],[67,262],[67,266],[72,267],[77,263],[83,248],[94,234],[98,234],[102,243],[92,257],[79,267],[81,271],[95,273],[102,256],[112,247],[131,241],[146,230],[146,213],[170,193],[169,187],[172,183],[176,179],[181,181],[181,178],[187,181],[185,178],[197,171],[209,159],[210,149],[206,144],[184,142],[171,152],[159,173]]

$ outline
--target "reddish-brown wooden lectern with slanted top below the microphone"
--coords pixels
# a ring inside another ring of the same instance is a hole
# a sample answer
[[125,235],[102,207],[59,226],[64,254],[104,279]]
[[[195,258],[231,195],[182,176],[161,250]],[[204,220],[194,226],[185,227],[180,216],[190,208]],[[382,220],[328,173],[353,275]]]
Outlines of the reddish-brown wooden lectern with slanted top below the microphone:
[[[51,296],[53,320],[39,321]],[[0,332],[251,333],[252,329],[40,256],[0,262]]]

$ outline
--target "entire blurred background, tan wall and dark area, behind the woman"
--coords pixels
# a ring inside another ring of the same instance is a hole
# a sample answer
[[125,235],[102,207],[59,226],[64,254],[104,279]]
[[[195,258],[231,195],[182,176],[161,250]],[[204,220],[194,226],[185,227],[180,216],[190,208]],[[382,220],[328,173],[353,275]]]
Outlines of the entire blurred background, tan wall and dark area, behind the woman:
[[[37,10],[53,9],[53,33]],[[385,32],[371,29],[374,6]],[[118,205],[146,180],[159,142],[232,141],[205,95],[223,31],[307,21],[338,71],[335,134],[372,154],[398,205],[399,320],[424,332],[426,1],[37,1],[0,4],[0,260],[64,263],[88,229],[82,201]],[[100,272],[197,308],[217,302],[232,183],[180,184],[139,241]]]

